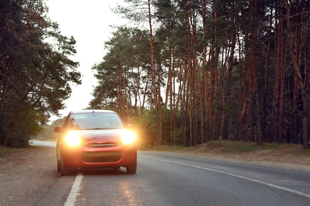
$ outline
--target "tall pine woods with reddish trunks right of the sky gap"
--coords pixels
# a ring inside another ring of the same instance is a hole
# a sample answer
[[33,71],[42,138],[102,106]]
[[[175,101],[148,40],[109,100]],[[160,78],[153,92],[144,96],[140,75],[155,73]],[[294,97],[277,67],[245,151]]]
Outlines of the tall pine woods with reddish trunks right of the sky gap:
[[310,129],[310,2],[124,0],[92,68],[91,107],[117,110],[147,143],[303,144]]

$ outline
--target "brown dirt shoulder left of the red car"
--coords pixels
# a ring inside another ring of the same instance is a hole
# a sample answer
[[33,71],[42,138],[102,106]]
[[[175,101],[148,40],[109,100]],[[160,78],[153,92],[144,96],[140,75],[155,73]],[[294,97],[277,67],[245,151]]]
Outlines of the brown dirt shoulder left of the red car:
[[56,152],[34,147],[0,157],[0,206],[35,206],[61,176]]

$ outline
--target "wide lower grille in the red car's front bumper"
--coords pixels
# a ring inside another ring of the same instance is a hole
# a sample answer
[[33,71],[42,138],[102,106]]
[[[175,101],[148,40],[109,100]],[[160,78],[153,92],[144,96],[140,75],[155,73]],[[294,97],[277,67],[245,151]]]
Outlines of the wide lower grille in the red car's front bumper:
[[122,151],[82,152],[81,158],[85,163],[113,163],[123,157]]

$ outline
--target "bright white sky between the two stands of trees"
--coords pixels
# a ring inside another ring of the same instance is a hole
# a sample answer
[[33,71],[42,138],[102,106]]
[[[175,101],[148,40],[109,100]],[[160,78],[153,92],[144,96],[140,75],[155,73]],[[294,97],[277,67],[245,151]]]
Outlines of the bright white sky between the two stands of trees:
[[62,35],[76,40],[77,53],[72,60],[80,62],[78,70],[82,74],[82,84],[72,87],[71,98],[65,101],[67,108],[59,111],[61,118],[72,110],[85,109],[93,98],[97,82],[91,68],[105,55],[104,41],[111,38],[113,31],[110,25],[126,23],[110,11],[116,3],[122,4],[123,0],[47,0],[50,19],[59,24]]

